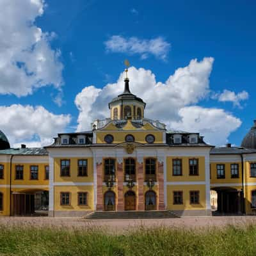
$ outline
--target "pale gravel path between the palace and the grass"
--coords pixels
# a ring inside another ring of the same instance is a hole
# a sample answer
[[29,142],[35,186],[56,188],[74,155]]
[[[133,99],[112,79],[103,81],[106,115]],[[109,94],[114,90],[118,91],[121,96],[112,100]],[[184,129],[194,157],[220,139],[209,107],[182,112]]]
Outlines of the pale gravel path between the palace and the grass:
[[90,228],[104,227],[107,230],[129,230],[145,227],[174,227],[174,228],[207,228],[224,227],[225,225],[256,225],[256,216],[212,216],[186,217],[175,219],[154,220],[84,220],[83,218],[50,218],[50,217],[0,217],[0,225],[28,225],[35,227],[68,227]]

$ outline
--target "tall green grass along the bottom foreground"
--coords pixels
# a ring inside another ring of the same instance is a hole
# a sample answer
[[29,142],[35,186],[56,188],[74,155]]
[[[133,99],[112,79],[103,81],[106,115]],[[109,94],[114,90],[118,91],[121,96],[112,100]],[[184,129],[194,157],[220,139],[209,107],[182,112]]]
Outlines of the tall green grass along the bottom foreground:
[[256,255],[256,227],[202,230],[0,226],[0,255]]

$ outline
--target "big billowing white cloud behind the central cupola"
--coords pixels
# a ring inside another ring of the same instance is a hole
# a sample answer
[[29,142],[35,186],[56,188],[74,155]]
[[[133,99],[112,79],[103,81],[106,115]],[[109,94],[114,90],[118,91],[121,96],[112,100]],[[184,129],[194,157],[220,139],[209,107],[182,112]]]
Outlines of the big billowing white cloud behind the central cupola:
[[[225,144],[230,132],[241,124],[239,118],[223,109],[195,106],[210,92],[209,77],[213,61],[213,58],[191,60],[188,66],[175,70],[164,83],[157,82],[150,70],[129,68],[131,92],[147,103],[145,117],[164,122],[168,129],[202,132],[209,143]],[[80,111],[77,131],[91,129],[91,122],[97,118],[109,117],[108,102],[123,90],[124,73],[120,74],[116,83],[106,84],[102,89],[87,86],[78,93],[75,100]],[[200,125],[195,125],[199,124],[199,120]]]

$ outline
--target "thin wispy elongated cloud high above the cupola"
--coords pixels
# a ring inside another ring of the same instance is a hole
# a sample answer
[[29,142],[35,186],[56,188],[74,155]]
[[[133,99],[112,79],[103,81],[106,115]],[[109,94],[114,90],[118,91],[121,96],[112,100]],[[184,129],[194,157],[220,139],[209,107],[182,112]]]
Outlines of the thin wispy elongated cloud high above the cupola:
[[166,60],[171,47],[170,43],[166,42],[161,36],[148,40],[136,36],[125,38],[124,36],[113,35],[104,44],[108,52],[139,54],[142,59],[153,55],[162,60]]

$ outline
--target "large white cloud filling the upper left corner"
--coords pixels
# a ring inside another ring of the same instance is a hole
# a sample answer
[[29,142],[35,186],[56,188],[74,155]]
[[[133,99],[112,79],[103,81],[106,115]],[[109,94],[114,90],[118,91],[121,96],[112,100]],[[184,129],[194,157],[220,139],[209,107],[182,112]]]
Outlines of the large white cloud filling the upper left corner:
[[35,25],[44,7],[44,0],[0,1],[0,94],[21,97],[47,85],[61,90],[60,51],[50,45],[55,34]]

